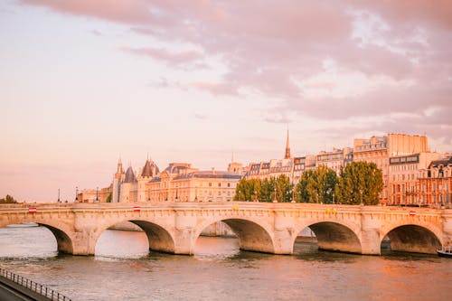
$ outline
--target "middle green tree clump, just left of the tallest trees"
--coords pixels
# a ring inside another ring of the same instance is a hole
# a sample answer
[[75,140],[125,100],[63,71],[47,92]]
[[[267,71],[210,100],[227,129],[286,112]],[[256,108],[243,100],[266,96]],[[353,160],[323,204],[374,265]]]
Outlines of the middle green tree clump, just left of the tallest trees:
[[323,165],[316,170],[308,170],[297,183],[296,201],[332,203],[336,184],[337,175],[334,170]]

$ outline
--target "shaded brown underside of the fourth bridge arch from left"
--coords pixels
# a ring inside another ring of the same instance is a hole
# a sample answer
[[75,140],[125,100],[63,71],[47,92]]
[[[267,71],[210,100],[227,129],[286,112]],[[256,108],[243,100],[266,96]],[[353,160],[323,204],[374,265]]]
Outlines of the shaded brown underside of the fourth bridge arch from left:
[[361,241],[350,228],[333,221],[313,223],[309,227],[317,239],[318,249],[362,253]]

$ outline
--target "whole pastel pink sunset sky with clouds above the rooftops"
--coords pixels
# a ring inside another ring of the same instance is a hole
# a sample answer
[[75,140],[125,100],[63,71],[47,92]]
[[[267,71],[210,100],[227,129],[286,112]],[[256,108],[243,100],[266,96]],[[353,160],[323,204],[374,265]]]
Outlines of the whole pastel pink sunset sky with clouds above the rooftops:
[[452,2],[3,0],[0,197],[427,135],[452,152]]

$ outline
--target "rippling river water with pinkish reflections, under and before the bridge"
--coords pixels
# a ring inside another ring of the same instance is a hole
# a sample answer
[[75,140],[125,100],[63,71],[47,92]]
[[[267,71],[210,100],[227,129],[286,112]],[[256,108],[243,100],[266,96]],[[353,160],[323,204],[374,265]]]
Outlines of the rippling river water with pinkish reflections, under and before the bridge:
[[292,256],[240,251],[200,237],[194,256],[149,253],[142,232],[106,230],[90,257],[59,255],[43,227],[0,229],[0,268],[73,300],[452,300],[452,259],[388,252]]

